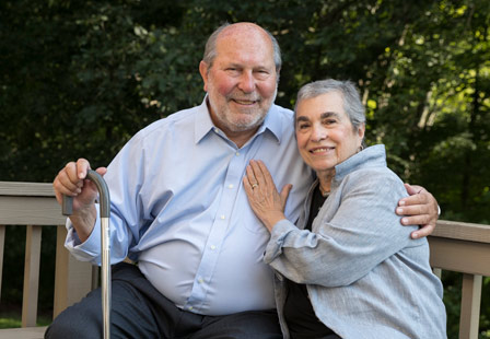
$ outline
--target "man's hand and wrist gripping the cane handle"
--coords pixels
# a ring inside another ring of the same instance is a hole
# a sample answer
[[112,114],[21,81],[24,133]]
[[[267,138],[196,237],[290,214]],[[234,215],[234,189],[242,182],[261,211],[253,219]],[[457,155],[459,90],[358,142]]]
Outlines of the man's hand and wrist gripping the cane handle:
[[[73,197],[73,213],[69,218],[82,242],[91,234],[96,220],[94,203],[98,191],[95,184],[85,179],[89,170],[89,161],[79,159],[77,162],[68,163],[52,182],[59,204],[62,204],[63,195]],[[104,175],[107,170],[100,167],[96,172]]]

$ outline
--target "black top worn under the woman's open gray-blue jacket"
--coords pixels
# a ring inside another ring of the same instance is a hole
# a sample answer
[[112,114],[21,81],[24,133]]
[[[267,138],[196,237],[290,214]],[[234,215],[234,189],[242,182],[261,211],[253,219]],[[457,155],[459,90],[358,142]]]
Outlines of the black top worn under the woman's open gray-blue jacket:
[[[312,231],[313,220],[318,214],[326,197],[322,196],[319,185],[315,188],[310,207],[310,218],[305,230]],[[334,335],[315,315],[310,302],[306,285],[287,279],[288,297],[284,304],[284,317],[293,339],[317,339]]]

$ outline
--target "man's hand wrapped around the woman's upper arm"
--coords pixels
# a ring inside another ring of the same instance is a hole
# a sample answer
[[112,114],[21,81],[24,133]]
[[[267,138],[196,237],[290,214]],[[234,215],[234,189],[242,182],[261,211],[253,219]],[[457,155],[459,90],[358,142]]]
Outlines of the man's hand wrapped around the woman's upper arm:
[[405,188],[410,197],[400,199],[396,209],[398,215],[408,215],[401,218],[401,224],[420,225],[411,233],[412,238],[430,235],[439,219],[438,201],[421,186],[405,184]]

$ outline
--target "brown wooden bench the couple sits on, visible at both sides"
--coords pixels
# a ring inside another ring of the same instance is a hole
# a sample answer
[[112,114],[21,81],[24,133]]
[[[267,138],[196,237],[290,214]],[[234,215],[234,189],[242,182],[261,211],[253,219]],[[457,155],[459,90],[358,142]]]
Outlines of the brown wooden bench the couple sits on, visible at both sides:
[[[65,220],[50,184],[0,182],[0,291],[5,227],[26,227],[22,328],[0,329],[0,339],[43,338],[45,328],[35,327],[43,227],[57,227],[52,316],[97,284],[98,269],[75,260],[63,247]],[[429,242],[436,273],[441,269],[463,273],[459,338],[477,339],[482,277],[490,277],[490,225],[439,221]]]

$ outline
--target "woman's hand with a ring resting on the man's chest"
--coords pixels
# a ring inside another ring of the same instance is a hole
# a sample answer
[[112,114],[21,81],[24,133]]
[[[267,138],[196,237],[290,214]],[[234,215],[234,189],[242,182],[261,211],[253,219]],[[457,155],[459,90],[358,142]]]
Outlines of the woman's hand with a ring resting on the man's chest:
[[284,207],[292,185],[285,185],[279,194],[272,177],[261,161],[252,160],[246,168],[243,186],[252,210],[269,230],[280,220],[285,219]]

